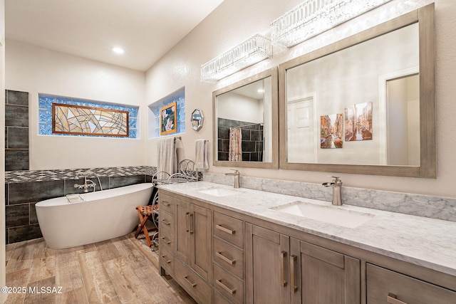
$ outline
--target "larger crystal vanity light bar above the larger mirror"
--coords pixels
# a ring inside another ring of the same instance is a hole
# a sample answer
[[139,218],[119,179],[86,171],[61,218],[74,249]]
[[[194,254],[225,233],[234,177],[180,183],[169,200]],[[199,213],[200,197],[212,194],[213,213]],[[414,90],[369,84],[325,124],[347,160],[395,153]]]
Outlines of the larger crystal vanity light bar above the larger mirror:
[[389,1],[307,0],[271,23],[271,40],[291,48]]

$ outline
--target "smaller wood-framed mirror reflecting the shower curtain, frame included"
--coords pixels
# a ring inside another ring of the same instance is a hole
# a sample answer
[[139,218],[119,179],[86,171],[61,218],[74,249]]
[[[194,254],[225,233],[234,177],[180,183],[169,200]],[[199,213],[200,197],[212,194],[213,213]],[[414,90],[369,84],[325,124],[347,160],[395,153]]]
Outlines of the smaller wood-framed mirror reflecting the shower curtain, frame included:
[[214,166],[279,167],[278,94],[277,68],[212,93]]

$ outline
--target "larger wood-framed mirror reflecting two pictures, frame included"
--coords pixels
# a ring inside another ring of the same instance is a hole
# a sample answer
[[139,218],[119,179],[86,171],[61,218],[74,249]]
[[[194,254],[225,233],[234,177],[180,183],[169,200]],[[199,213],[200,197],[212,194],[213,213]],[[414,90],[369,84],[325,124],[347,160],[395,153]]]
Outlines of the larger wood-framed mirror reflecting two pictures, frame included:
[[434,5],[279,65],[280,168],[435,178]]

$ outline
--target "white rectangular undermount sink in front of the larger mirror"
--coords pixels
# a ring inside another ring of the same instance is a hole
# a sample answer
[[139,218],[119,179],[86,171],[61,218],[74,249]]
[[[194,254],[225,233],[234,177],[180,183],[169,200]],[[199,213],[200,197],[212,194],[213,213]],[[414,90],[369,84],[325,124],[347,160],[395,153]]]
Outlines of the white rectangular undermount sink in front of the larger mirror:
[[339,206],[312,204],[305,201],[294,201],[291,204],[270,209],[346,228],[356,228],[375,216],[375,214],[367,212],[343,209]]

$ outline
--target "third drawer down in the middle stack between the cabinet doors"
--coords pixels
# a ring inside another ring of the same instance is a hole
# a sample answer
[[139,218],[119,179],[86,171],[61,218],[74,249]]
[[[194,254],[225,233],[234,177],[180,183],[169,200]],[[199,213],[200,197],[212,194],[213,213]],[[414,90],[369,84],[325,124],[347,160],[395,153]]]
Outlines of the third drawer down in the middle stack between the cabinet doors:
[[244,303],[244,284],[214,264],[214,288],[233,303]]

